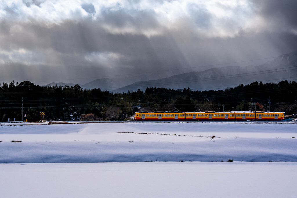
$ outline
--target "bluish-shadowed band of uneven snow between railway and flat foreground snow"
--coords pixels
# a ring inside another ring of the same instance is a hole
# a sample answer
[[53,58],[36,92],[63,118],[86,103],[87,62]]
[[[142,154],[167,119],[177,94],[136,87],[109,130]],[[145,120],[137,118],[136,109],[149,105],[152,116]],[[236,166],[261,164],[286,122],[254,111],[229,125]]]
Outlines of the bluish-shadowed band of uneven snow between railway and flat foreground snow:
[[[0,126],[0,163],[297,161],[296,123]],[[215,136],[214,138],[211,138]],[[10,142],[20,140],[22,142]]]

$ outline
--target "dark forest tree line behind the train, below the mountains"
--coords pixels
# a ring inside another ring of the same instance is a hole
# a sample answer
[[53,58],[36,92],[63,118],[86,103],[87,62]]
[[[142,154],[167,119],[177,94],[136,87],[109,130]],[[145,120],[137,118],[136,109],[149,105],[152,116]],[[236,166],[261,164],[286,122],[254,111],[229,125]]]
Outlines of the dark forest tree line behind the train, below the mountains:
[[99,88],[40,86],[30,81],[0,85],[0,120],[131,120],[134,112],[152,111],[281,111],[296,114],[297,83],[240,84],[223,90],[193,91],[190,88],[146,88],[143,92],[113,93]]

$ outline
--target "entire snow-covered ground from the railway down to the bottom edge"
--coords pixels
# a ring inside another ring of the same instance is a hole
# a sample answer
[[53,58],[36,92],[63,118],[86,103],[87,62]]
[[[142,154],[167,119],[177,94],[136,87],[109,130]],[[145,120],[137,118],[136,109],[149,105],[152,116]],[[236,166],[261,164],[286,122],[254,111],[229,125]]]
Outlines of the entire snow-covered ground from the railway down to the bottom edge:
[[296,129],[296,122],[5,124],[0,193],[295,197]]

